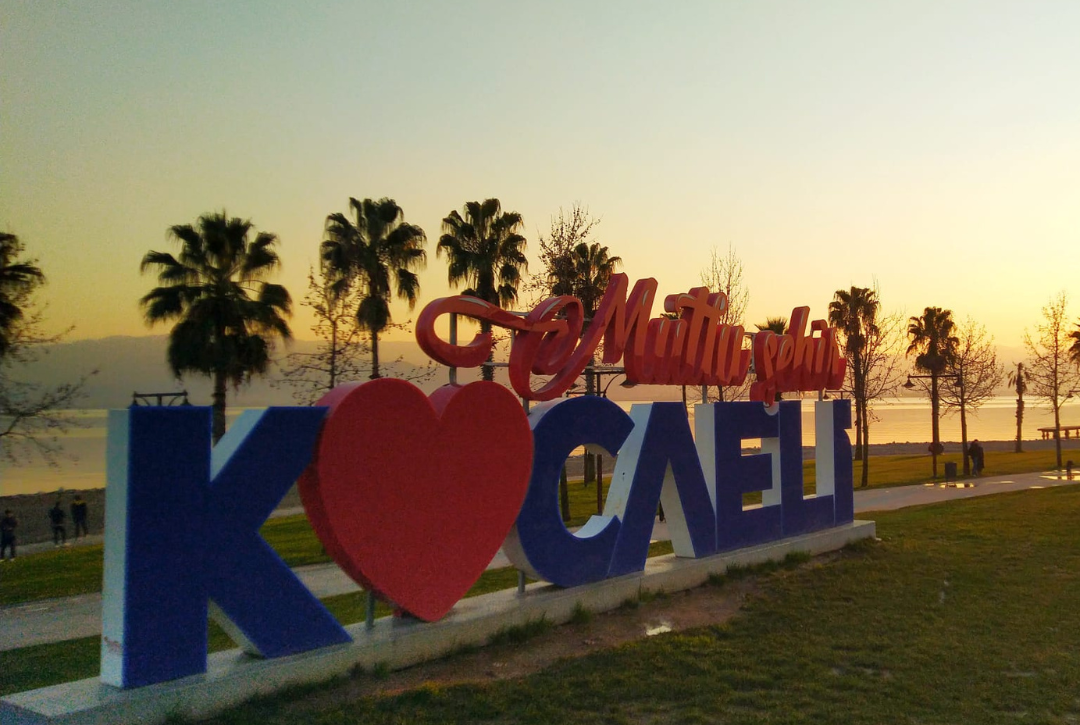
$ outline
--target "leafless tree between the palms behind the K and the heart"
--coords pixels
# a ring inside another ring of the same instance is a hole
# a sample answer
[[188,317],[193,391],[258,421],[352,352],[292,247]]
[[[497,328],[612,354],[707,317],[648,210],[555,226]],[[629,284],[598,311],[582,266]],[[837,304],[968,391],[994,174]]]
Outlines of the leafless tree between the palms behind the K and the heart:
[[[315,315],[311,332],[318,338],[314,352],[293,352],[281,363],[282,377],[273,385],[293,389],[293,398],[305,405],[312,405],[342,382],[367,379],[372,373],[370,346],[356,320],[359,297],[350,284],[342,284],[334,274],[321,269],[308,270],[308,294],[301,303]],[[408,323],[388,323],[388,330],[405,330]],[[382,376],[396,377],[414,382],[431,378],[435,366],[413,367],[399,355],[389,364],[381,364]]]

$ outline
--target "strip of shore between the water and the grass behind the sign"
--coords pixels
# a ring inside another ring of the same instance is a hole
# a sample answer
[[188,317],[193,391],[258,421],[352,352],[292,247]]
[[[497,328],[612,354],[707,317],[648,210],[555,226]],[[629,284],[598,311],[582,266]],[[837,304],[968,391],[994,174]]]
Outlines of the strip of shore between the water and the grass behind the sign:
[[[986,449],[987,454],[993,454],[994,452],[1009,452],[1013,451],[1015,446],[1015,441],[980,441],[983,447]],[[960,444],[957,442],[945,443],[946,453],[959,453]],[[1053,441],[1024,441],[1025,451],[1052,451],[1054,447]],[[1069,457],[1072,460],[1080,464],[1080,439],[1069,439],[1062,441],[1062,451],[1067,452],[1065,455],[1066,459]],[[807,446],[802,449],[802,457],[806,460],[813,459],[814,449],[812,446]],[[926,443],[881,443],[870,445],[870,455],[873,456],[896,456],[896,455],[919,455],[927,453]],[[611,456],[604,456],[604,471],[610,473],[615,470],[615,458]],[[989,456],[989,466],[993,469],[993,455]],[[581,456],[572,456],[567,461],[567,473],[570,479],[581,479],[583,471],[583,458]],[[104,488],[84,488],[84,489],[68,489],[65,488],[64,493],[60,494],[62,505],[64,511],[68,513],[67,519],[67,533],[71,537],[75,534],[75,526],[71,523],[71,515],[69,507],[71,500],[75,498],[76,494],[80,494],[86,501],[87,507],[87,525],[91,534],[100,534],[105,527],[105,489]],[[44,494],[25,494],[15,496],[0,496],[0,511],[5,509],[11,509],[14,511],[15,516],[18,519],[18,542],[19,543],[37,543],[40,541],[50,541],[53,538],[52,525],[49,521],[49,509],[52,508],[53,504],[56,501],[56,493],[44,493]],[[301,506],[300,496],[296,487],[289,489],[282,499],[279,510],[281,509],[296,509]]]

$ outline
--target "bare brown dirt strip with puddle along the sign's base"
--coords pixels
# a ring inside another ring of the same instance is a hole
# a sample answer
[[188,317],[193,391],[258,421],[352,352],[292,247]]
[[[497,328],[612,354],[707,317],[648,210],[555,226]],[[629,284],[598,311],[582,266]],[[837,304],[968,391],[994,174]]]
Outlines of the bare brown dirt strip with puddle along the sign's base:
[[[816,560],[813,564],[816,564]],[[808,564],[808,565],[813,565]],[[299,716],[376,695],[394,695],[433,684],[484,683],[522,677],[558,660],[582,657],[648,636],[680,632],[731,619],[759,591],[757,577],[663,594],[636,606],[592,615],[588,621],[553,627],[519,644],[487,645],[389,673],[362,673],[288,706]]]

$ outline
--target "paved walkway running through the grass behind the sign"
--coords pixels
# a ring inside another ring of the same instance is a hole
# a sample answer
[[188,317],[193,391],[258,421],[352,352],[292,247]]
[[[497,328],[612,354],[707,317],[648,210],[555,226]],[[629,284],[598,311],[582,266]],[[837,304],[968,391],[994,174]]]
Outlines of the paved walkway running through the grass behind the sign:
[[[972,498],[1008,491],[1026,488],[1045,488],[1075,483],[1064,475],[1052,473],[1018,473],[968,480],[962,487],[942,484],[923,486],[897,486],[895,488],[855,489],[855,513],[867,511],[886,511],[908,506],[936,504],[958,498]],[[276,512],[275,515],[288,515],[302,512],[302,509],[288,509]],[[652,531],[654,540],[669,539],[666,524],[657,522]],[[82,543],[99,543],[100,536],[90,536],[80,540]],[[32,553],[52,549],[52,543],[36,543],[21,547],[21,553]],[[3,563],[0,566],[32,565],[31,562],[16,561]],[[510,562],[500,550],[488,568],[509,566]],[[320,599],[360,591],[360,587],[350,579],[336,564],[314,564],[295,569],[315,596]],[[2,576],[2,569],[0,569]],[[43,600],[0,607],[0,650],[15,649],[30,645],[60,642],[76,637],[92,636],[102,631],[102,595],[82,594],[64,599]]]

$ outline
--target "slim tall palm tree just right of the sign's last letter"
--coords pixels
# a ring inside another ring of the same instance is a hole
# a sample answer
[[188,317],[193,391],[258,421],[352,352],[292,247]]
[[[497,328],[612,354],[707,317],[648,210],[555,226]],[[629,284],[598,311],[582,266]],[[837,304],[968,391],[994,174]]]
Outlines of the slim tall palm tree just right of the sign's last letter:
[[863,461],[861,486],[869,483],[869,416],[865,352],[866,341],[878,334],[877,294],[869,287],[837,290],[828,304],[828,322],[843,334],[843,352],[851,368],[851,397],[855,399],[855,456]]

